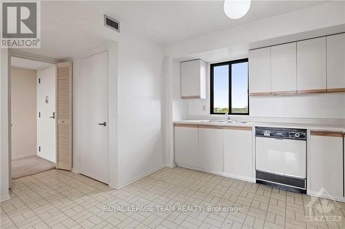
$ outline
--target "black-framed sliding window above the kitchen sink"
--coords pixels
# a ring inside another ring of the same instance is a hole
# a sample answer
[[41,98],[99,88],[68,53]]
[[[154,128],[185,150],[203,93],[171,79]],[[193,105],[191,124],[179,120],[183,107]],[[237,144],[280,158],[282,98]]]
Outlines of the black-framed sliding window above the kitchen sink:
[[210,113],[249,114],[248,58],[210,65]]

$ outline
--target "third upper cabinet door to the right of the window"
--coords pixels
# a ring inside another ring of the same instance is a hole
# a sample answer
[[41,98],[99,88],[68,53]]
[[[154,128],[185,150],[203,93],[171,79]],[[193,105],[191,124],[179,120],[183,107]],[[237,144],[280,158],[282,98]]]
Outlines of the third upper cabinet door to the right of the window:
[[297,90],[326,91],[326,37],[297,42]]

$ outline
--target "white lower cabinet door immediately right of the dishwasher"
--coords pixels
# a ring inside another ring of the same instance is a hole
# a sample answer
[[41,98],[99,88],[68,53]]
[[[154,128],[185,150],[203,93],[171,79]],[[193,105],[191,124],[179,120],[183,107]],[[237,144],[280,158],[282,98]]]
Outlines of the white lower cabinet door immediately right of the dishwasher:
[[311,191],[324,188],[332,197],[343,196],[342,133],[311,132]]

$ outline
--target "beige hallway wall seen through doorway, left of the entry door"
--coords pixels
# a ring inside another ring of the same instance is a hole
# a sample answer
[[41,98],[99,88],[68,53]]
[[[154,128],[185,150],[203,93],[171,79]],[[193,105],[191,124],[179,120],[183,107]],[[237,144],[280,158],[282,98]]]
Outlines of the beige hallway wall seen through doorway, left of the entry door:
[[12,160],[37,153],[36,70],[11,67]]

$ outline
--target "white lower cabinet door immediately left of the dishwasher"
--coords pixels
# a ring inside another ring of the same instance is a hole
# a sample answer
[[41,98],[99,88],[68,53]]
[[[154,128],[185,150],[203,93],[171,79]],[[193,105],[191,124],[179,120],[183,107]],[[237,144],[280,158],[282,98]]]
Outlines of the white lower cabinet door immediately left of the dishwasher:
[[224,173],[248,179],[253,177],[252,129],[224,129]]

